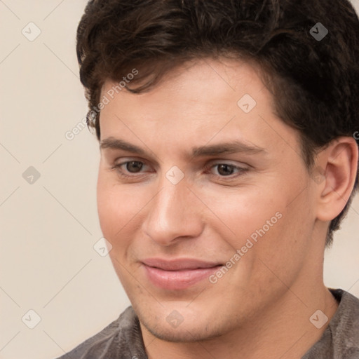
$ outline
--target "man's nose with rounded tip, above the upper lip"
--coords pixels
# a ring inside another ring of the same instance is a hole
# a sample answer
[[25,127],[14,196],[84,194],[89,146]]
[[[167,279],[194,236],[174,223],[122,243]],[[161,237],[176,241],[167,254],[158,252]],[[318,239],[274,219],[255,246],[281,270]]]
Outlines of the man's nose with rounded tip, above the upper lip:
[[199,236],[203,231],[203,203],[194,196],[185,180],[172,184],[165,178],[159,188],[147,206],[147,216],[142,222],[144,233],[163,246],[180,238]]

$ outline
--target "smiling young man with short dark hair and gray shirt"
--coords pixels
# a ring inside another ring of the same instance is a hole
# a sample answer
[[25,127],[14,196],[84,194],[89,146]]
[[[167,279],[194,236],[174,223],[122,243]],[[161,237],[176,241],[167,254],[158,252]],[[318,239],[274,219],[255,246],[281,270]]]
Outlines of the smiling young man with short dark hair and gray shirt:
[[132,306],[62,358],[359,358],[323,284],[358,185],[348,1],[89,1],[77,54]]

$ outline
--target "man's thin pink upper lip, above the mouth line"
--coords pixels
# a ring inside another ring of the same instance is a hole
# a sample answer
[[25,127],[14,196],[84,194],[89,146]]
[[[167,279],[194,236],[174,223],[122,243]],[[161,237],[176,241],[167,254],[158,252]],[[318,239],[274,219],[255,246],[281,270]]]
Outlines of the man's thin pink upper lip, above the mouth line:
[[146,266],[163,269],[164,271],[183,271],[185,269],[212,268],[220,266],[219,262],[206,262],[201,259],[181,258],[181,259],[161,259],[147,258],[142,260]]

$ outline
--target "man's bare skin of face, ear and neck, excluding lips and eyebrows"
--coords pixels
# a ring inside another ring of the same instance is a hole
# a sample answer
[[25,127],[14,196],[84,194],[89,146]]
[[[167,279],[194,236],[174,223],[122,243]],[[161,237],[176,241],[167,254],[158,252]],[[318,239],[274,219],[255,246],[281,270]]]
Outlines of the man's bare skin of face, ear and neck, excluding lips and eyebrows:
[[[102,142],[144,150],[101,149],[97,203],[149,358],[299,358],[329,323],[317,329],[312,314],[320,309],[330,320],[337,309],[323,284],[325,234],[353,189],[358,148],[351,137],[331,142],[316,156],[325,177],[313,180],[297,131],[274,114],[258,73],[238,60],[198,60],[149,92],[121,91],[101,111]],[[237,105],[244,94],[257,102],[248,114]],[[233,141],[264,151],[191,156],[194,147]],[[144,165],[134,173],[126,161]],[[226,175],[221,163],[247,170],[227,167]],[[184,173],[178,184],[165,177],[174,165]],[[164,290],[145,275],[149,257],[225,264],[277,212],[215,284]],[[166,320],[172,311],[183,318],[177,327]]]

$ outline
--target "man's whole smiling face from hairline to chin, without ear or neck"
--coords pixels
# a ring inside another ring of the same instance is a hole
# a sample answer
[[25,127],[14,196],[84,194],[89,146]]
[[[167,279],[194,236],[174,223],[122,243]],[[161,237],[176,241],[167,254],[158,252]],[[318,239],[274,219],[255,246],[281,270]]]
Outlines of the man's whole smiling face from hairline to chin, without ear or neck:
[[313,273],[313,181],[257,74],[198,60],[147,93],[118,92],[101,111],[102,232],[140,323],[158,338],[230,332]]

